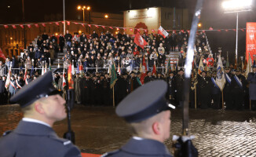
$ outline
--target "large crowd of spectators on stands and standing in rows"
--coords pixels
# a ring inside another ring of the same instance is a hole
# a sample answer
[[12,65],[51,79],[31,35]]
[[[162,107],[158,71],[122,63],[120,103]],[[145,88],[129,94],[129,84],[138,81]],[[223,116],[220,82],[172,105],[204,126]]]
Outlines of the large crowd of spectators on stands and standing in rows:
[[[123,35],[118,32],[117,35],[111,34],[109,31],[97,35],[95,31],[90,36],[74,35],[67,33],[56,37],[55,35],[49,36],[44,33],[37,40],[37,45],[34,47],[30,45],[24,52],[23,57],[20,57],[18,66],[31,69],[42,68],[42,63],[45,61],[54,60],[58,52],[64,52],[64,47],[67,48],[64,60],[64,68],[68,68],[68,63],[73,63],[75,67],[82,66],[83,72],[80,75],[75,76],[75,93],[76,102],[82,104],[104,104],[112,105],[112,95],[110,89],[110,76],[108,70],[101,70],[101,68],[108,68],[110,64],[114,63],[115,67],[123,68],[122,75],[119,75],[119,79],[115,85],[115,102],[123,100],[128,93],[131,93],[133,89],[141,86],[141,72],[140,66],[142,57],[145,58],[148,67],[152,68],[155,64],[158,68],[166,68],[165,61],[166,55],[170,52],[179,52],[179,60],[176,67],[183,67],[188,49],[188,32],[179,31],[176,33],[173,31],[166,38],[162,35],[141,35],[148,45],[144,46],[144,49],[133,43],[133,38],[130,35]],[[221,108],[221,90],[218,86],[214,85],[211,78],[216,78],[216,60],[214,60],[212,53],[208,50],[206,35],[201,31],[196,36],[195,45],[195,64],[198,67],[200,60],[203,60],[203,64],[210,68],[210,71],[203,71],[201,75],[198,75],[198,84],[196,85],[196,101],[197,107],[200,108]],[[225,58],[221,58],[222,63],[226,64]],[[0,62],[0,76],[2,81],[5,81],[8,68],[16,68],[16,57],[12,60],[9,58],[5,61],[5,66]],[[88,70],[88,68],[94,68]],[[99,68],[99,72],[95,68]],[[128,70],[129,69],[129,72]],[[243,71],[232,71],[232,64],[230,68],[226,68],[226,74],[231,79],[230,82],[226,82],[224,89],[225,106],[227,109],[242,109],[248,108],[249,104],[249,90],[247,87],[247,80],[242,75]],[[137,69],[133,70],[133,69]],[[14,75],[11,77],[11,83],[9,85],[9,95],[12,96],[16,90],[19,90],[25,84],[36,79],[40,70],[29,70],[26,75],[24,71],[13,70]],[[144,82],[151,82],[154,79],[163,79],[168,82],[170,88],[166,97],[173,103],[182,106],[183,93],[183,76],[182,68],[176,71],[157,71],[157,74],[152,75],[152,71],[148,71],[148,76],[144,79]],[[242,88],[236,83],[234,75],[240,78],[242,82]],[[64,90],[63,74],[55,74],[55,84],[57,89]],[[250,82],[250,80],[249,80]],[[240,88],[237,88],[237,87]],[[65,95],[65,92],[64,92]],[[81,97],[82,96],[82,97]],[[84,97],[85,96],[85,97]],[[191,107],[196,108],[195,102],[195,87],[191,89]],[[5,99],[6,101],[6,99]],[[254,104],[254,103],[253,103]],[[254,105],[253,105],[254,107]],[[256,106],[255,106],[256,107]]]

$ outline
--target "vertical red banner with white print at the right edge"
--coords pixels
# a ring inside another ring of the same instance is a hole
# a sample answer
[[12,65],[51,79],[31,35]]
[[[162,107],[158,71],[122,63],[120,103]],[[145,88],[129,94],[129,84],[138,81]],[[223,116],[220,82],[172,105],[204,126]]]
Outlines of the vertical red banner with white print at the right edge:
[[249,60],[249,53],[251,60],[254,60],[253,56],[256,54],[256,23],[247,23],[247,60]]

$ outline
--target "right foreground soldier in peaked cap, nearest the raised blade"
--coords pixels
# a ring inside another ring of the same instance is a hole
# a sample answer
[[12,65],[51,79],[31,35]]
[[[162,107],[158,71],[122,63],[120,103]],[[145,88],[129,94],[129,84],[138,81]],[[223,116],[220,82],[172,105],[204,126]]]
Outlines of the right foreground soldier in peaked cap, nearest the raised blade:
[[172,156],[163,144],[170,137],[170,104],[166,102],[166,90],[163,80],[148,82],[121,101],[115,112],[130,124],[133,137],[122,148],[102,157]]

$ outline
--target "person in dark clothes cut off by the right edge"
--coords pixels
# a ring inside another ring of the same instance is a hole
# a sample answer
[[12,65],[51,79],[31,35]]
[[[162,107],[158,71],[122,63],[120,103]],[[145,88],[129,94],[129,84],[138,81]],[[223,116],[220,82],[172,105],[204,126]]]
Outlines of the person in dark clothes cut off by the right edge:
[[249,96],[251,100],[251,109],[256,110],[256,65],[253,66],[253,71],[248,74],[247,82],[250,82]]

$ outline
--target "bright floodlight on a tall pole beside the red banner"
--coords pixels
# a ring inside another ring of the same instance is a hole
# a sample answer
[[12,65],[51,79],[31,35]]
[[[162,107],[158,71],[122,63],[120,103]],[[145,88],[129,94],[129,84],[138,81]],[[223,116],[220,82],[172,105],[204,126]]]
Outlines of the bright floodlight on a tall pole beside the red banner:
[[236,13],[236,60],[237,60],[237,42],[238,42],[238,13],[251,11],[253,0],[229,0],[222,2],[224,13]]

